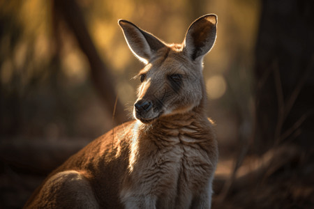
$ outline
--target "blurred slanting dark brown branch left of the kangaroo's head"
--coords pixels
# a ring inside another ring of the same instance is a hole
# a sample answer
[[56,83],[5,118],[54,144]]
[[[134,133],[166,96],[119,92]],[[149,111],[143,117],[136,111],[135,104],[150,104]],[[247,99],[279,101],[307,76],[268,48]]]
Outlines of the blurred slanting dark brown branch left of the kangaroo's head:
[[[84,22],[82,12],[74,0],[54,0],[55,12],[61,13],[63,19],[73,35],[77,39],[77,42],[82,49],[82,52],[86,54],[91,67],[91,79],[93,84],[100,95],[101,100],[105,104],[105,107],[109,111],[115,112],[115,122],[122,123],[127,121],[127,114],[124,111],[124,107],[119,100],[116,101],[117,93],[114,88],[114,82],[112,81],[112,75],[108,70],[107,65],[100,58],[97,49],[89,36],[87,26]],[[105,34],[104,34],[105,36]]]

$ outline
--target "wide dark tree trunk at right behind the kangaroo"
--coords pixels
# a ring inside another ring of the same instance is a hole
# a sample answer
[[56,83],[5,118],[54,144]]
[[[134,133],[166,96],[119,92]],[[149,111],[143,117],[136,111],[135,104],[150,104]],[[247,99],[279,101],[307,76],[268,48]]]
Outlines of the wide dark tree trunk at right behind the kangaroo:
[[264,0],[257,37],[255,152],[313,147],[314,1]]

